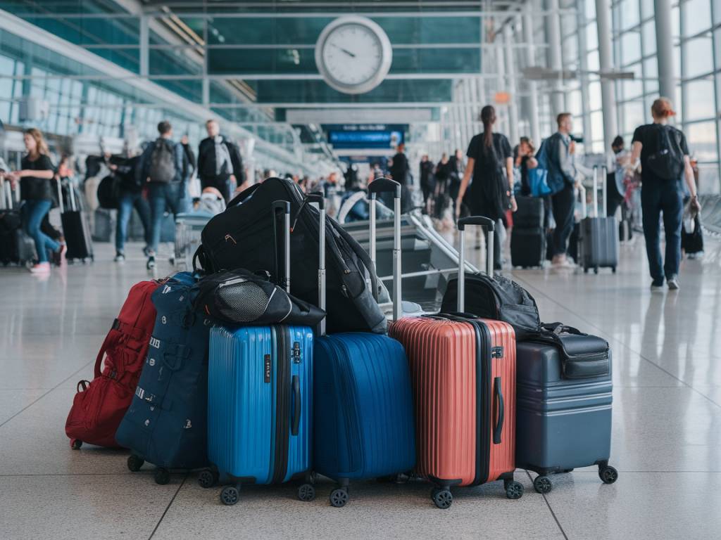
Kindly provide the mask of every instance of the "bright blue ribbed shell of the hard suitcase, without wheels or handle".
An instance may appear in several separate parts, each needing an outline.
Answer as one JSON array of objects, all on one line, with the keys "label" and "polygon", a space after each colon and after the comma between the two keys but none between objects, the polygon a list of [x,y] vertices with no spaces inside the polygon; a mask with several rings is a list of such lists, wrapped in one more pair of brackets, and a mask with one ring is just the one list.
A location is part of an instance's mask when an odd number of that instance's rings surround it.
[{"label": "bright blue ribbed shell of the hard suitcase, without wheels or handle", "polygon": [[[278,358],[278,332],[288,330],[298,343],[300,356],[289,352]],[[292,346],[291,346],[292,347]],[[290,350],[290,348],[289,348]],[[266,357],[270,355],[270,380]],[[296,361],[298,359],[298,361]],[[293,435],[293,395],[288,384],[288,410],[278,411],[279,363],[290,364],[301,392],[298,434]],[[208,459],[216,465],[221,481],[270,484],[275,468],[275,428],[282,415],[288,418],[288,467],[282,482],[309,471],[311,465],[311,395],[313,330],[305,326],[216,327],[211,330],[208,366]],[[267,382],[266,382],[267,381]]]}]

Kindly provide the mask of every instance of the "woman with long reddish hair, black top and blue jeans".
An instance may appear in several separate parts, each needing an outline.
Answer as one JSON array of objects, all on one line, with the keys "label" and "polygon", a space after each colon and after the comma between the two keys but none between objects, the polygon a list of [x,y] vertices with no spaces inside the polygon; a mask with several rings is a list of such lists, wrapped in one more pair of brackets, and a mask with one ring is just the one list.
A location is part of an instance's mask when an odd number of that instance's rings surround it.
[{"label": "woman with long reddish hair, black top and blue jeans", "polygon": [[40,230],[43,217],[53,204],[53,188],[50,180],[55,176],[55,168],[50,161],[50,151],[43,133],[32,127],[23,134],[27,154],[22,158],[22,169],[10,174],[13,182],[20,182],[22,206],[22,228],[35,241],[37,264],[30,268],[32,274],[50,274],[48,251],[54,253],[58,264],[63,261],[66,251],[64,243],[57,242]]}]

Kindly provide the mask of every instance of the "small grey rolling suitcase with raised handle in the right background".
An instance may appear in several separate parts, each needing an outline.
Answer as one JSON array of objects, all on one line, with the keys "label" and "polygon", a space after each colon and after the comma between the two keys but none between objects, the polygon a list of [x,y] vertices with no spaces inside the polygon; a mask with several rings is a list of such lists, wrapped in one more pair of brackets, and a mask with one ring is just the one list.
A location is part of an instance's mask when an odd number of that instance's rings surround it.
[{"label": "small grey rolling suitcase with raised handle in the right background", "polygon": [[[601,176],[603,178],[601,207],[605,209],[606,167],[603,167]],[[619,264],[619,225],[614,216],[598,216],[598,166],[593,167],[593,217],[585,217],[581,220],[578,242],[579,264],[583,267],[584,273],[593,269],[598,274],[600,268],[610,268],[614,274],[616,273],[616,266]]]}]

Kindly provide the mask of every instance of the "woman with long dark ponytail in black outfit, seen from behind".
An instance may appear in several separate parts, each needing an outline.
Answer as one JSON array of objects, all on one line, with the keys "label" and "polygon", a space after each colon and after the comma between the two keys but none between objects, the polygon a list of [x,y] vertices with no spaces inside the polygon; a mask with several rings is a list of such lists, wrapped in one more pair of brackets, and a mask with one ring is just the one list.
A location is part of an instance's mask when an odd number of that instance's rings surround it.
[{"label": "woman with long dark ponytail in black outfit, seen from behind", "polygon": [[[490,217],[494,221],[501,220],[504,226],[508,226],[505,212],[509,205],[513,212],[518,210],[516,198],[513,197],[513,151],[505,135],[493,132],[495,121],[495,108],[492,105],[483,107],[483,132],[474,135],[468,145],[468,165],[456,201],[456,216],[461,215],[461,204],[465,199],[472,215]],[[473,183],[469,189],[471,176]],[[467,198],[466,191],[469,193]],[[500,270],[501,246],[497,227],[494,236],[493,266]]]}]

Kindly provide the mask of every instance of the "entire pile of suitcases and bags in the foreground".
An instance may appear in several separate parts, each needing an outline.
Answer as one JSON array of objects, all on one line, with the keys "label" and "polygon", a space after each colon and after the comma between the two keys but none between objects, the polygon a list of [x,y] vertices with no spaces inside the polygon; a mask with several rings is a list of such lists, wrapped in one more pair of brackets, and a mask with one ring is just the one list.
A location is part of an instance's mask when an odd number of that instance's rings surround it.
[{"label": "entire pile of suitcases and bags in the foreground", "polygon": [[[392,180],[369,187],[370,255],[326,218],[322,195],[281,179],[247,192],[208,222],[192,272],[131,289],[95,378],[79,383],[74,449],[131,449],[128,468],[154,464],[160,484],[197,469],[201,486],[224,485],[226,505],[243,484],[291,481],[313,500],[316,474],[335,480],[336,507],[350,482],[373,478],[428,480],[438,508],[451,487],[496,480],[520,498],[517,467],[539,473],[539,492],[549,474],[594,464],[616,480],[606,341],[542,325],[531,295],[492,274],[459,271],[440,314],[403,317]],[[395,195],[389,328],[374,271],[379,192]],[[461,239],[467,225],[493,228],[464,218]]]}]

